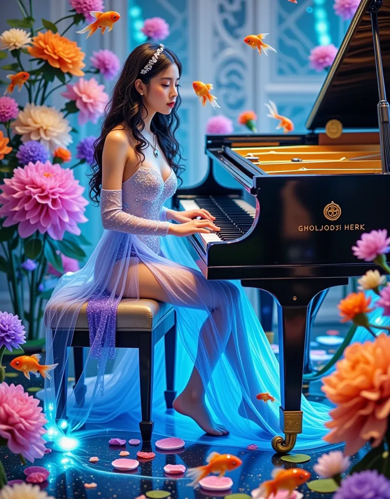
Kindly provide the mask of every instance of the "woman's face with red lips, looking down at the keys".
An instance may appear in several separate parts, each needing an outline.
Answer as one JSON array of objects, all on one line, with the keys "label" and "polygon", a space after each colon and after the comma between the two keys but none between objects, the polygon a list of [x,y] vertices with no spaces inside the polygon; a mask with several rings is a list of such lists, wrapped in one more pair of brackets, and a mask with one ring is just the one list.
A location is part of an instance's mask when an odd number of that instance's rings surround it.
[{"label": "woman's face with red lips, looking down at the keys", "polygon": [[179,68],[171,64],[165,71],[157,74],[144,86],[144,104],[148,111],[170,114],[178,96]]}]

